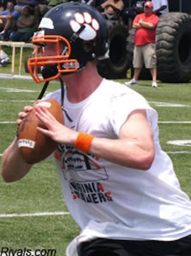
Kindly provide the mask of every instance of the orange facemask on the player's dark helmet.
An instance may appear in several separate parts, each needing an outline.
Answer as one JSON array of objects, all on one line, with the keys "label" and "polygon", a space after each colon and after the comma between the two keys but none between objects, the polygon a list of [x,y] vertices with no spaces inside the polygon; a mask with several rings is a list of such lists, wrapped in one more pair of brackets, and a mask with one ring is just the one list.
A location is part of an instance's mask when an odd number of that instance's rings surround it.
[{"label": "orange facemask on the player's dark helmet", "polygon": [[71,45],[66,38],[34,35],[32,43],[35,45],[34,57],[28,59],[27,66],[36,83],[55,80],[60,75],[78,71],[78,61],[69,59]]}]

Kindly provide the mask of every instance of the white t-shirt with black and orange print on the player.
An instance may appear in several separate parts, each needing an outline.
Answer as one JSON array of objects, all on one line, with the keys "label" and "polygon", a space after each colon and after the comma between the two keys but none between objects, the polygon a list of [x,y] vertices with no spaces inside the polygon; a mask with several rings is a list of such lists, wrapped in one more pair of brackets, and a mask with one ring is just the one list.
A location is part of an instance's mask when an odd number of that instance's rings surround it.
[{"label": "white t-shirt with black and orange print on the player", "polygon": [[[60,101],[60,90],[48,97]],[[190,199],[160,148],[157,112],[145,98],[103,79],[86,100],[70,103],[65,96],[64,105],[73,119],[69,122],[65,116],[66,126],[76,131],[117,139],[129,114],[145,109],[154,134],[155,159],[147,171],[122,167],[71,146],[57,148],[62,191],[81,235],[171,241],[191,234]]]}]

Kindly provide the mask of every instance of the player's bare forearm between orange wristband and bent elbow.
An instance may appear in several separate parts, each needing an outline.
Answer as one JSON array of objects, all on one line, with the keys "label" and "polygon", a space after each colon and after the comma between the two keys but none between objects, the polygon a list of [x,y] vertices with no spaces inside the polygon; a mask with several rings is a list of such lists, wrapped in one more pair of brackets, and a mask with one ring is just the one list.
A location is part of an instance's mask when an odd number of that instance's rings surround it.
[{"label": "player's bare forearm between orange wristband and bent elbow", "polygon": [[153,146],[141,147],[137,140],[95,138],[92,140],[90,153],[125,167],[148,170],[155,150]]}]

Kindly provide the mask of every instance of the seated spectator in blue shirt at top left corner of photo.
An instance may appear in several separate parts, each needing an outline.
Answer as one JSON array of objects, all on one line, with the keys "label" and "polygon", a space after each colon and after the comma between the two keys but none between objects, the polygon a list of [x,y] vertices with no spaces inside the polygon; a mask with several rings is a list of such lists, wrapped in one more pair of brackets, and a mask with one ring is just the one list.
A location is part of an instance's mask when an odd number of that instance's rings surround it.
[{"label": "seated spectator in blue shirt at top left corner of photo", "polygon": [[15,10],[14,3],[12,1],[8,1],[6,10],[1,11],[0,13],[1,39],[8,39],[11,31],[15,29],[15,25],[19,16],[20,12]]}]

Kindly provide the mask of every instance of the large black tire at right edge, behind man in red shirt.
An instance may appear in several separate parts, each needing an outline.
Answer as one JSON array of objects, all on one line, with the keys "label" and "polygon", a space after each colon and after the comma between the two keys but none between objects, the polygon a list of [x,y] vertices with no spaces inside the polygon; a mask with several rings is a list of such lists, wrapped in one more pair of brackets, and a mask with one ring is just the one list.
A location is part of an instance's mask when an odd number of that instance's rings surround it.
[{"label": "large black tire at right edge, behind man in red shirt", "polygon": [[162,82],[191,79],[191,15],[167,13],[157,26],[157,73]]}]

